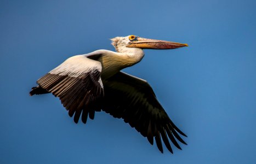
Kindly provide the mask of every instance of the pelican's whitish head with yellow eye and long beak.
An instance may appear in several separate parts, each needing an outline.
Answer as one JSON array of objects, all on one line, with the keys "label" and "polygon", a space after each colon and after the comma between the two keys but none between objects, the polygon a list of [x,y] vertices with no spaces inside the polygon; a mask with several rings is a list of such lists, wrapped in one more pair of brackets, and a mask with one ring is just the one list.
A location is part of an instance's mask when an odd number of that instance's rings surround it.
[{"label": "pelican's whitish head with yellow eye and long beak", "polygon": [[130,35],[127,37],[112,38],[112,45],[115,46],[117,52],[124,52],[127,48],[139,49],[177,49],[188,46],[183,43],[169,42],[164,40],[146,39],[138,36]]}]

